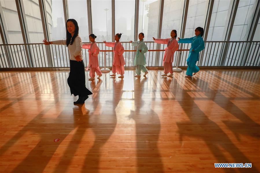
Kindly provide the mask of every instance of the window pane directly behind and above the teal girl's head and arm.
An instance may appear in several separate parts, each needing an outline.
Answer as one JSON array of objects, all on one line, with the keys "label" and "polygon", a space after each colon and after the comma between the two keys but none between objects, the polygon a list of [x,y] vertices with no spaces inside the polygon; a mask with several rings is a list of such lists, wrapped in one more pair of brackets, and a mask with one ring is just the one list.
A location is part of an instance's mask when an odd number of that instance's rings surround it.
[{"label": "window pane directly behind and above the teal girl's head and arm", "polygon": [[209,0],[189,1],[185,38],[194,36],[194,30],[197,27],[204,28],[208,6]]}]

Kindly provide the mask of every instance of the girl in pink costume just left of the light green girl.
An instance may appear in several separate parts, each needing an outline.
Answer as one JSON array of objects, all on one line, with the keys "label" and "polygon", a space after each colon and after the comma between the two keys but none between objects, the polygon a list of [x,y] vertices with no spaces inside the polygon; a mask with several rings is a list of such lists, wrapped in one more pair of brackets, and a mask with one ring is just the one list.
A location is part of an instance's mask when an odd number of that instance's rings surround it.
[{"label": "girl in pink costume just left of the light green girl", "polygon": [[123,53],[125,51],[123,45],[121,44],[121,42],[119,41],[121,38],[121,33],[117,33],[115,35],[115,40],[116,42],[106,42],[103,41],[105,43],[106,46],[108,47],[114,47],[114,60],[113,60],[113,65],[112,65],[112,72],[113,74],[110,75],[112,77],[116,77],[116,73],[120,74],[121,76],[119,77],[124,77],[124,73],[125,73],[125,68],[124,65],[126,64]]}]

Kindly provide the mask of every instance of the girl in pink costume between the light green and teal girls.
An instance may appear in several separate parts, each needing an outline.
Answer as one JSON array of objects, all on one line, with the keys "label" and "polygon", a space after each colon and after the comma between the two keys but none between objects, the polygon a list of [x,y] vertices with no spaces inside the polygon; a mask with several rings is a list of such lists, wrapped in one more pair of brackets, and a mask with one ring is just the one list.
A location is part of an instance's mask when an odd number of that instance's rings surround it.
[{"label": "girl in pink costume between the light green and teal girls", "polygon": [[176,37],[177,37],[176,30],[171,31],[171,38],[158,39],[153,37],[155,43],[167,44],[167,47],[165,48],[164,57],[163,57],[163,66],[164,66],[164,74],[162,75],[163,77],[167,76],[168,73],[170,73],[168,77],[173,76],[173,71],[172,71],[173,56],[175,51],[177,51],[179,48],[179,44],[176,40]]}]

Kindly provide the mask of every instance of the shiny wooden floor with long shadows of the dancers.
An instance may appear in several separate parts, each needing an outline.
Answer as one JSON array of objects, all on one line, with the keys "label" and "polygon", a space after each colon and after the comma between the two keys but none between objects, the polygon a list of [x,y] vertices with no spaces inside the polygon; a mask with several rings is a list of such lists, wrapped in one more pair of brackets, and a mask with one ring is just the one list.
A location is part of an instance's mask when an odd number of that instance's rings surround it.
[{"label": "shiny wooden floor with long shadows of the dancers", "polygon": [[260,70],[185,72],[106,73],[83,106],[68,71],[0,72],[0,172],[259,172]]}]

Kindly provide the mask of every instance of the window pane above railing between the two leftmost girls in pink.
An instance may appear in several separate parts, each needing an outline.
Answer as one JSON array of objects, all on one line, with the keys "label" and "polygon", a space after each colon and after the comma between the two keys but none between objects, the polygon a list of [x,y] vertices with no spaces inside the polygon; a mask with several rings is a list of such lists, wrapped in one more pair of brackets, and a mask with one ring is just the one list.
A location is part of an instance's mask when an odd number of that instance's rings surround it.
[{"label": "window pane above railing between the two leftmost girls in pink", "polygon": [[92,0],[92,25],[93,34],[97,36],[96,41],[112,41],[112,1]]}]

